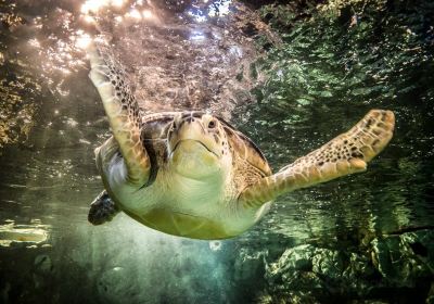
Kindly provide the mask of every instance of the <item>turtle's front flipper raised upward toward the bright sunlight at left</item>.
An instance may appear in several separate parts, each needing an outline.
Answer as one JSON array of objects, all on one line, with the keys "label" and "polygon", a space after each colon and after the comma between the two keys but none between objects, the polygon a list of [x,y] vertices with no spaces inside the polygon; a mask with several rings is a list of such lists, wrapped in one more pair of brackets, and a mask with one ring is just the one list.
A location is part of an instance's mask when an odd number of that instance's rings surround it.
[{"label": "turtle's front flipper raised upward toward the bright sunlight at left", "polygon": [[88,49],[91,71],[89,77],[97,87],[127,167],[127,181],[142,187],[151,172],[150,157],[140,138],[139,105],[131,93],[129,81],[120,63],[102,41]]}]

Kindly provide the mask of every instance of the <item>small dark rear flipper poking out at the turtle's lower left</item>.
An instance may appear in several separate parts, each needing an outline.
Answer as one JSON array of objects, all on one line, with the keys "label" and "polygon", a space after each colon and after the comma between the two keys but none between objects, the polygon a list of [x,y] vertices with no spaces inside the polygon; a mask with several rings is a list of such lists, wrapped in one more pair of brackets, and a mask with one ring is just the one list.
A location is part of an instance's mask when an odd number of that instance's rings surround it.
[{"label": "small dark rear flipper poking out at the turtle's lower left", "polygon": [[92,225],[101,225],[111,221],[118,212],[118,207],[104,190],[90,204],[88,220]]}]

